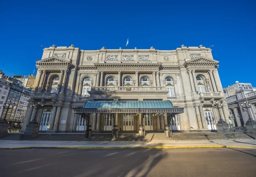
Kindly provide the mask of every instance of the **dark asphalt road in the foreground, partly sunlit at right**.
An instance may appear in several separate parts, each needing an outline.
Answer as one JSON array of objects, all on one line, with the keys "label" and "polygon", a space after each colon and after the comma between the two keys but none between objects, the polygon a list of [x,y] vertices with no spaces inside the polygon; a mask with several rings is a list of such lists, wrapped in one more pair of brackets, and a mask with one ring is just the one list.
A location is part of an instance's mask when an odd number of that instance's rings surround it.
[{"label": "dark asphalt road in the foreground, partly sunlit at right", "polygon": [[0,150],[0,177],[255,177],[256,149]]}]

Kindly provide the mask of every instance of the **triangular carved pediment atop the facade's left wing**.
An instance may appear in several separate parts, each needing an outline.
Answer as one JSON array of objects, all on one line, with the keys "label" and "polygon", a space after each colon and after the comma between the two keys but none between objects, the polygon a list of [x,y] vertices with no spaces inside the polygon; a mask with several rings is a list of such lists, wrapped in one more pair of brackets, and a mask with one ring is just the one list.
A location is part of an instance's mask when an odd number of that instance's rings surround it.
[{"label": "triangular carved pediment atop the facade's left wing", "polygon": [[71,66],[70,59],[61,59],[58,57],[49,57],[36,62],[38,65],[69,65]]}]

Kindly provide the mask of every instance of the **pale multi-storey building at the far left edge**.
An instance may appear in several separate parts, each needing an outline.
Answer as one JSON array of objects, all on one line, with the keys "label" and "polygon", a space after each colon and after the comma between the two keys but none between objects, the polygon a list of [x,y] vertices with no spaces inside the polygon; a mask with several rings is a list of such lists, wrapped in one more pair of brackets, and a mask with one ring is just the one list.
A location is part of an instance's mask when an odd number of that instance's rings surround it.
[{"label": "pale multi-storey building at the far left edge", "polygon": [[10,86],[11,83],[9,81],[4,80],[3,78],[0,78],[0,116],[3,113],[3,104],[6,103],[9,92],[10,92]]}]

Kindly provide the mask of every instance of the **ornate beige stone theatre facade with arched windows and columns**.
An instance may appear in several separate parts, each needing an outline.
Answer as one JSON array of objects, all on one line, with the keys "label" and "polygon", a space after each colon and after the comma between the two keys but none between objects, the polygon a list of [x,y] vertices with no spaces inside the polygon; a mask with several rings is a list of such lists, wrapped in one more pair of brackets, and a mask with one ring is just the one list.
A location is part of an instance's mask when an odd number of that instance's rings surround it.
[{"label": "ornate beige stone theatre facade with arched windows and columns", "polygon": [[[212,130],[219,119],[213,101],[224,104],[220,114],[229,123],[218,61],[204,46],[81,50],[74,45],[53,45],[44,49],[37,68],[22,132],[33,119],[41,132],[79,132],[87,126],[93,131],[111,131],[113,126],[119,131],[138,131],[140,125],[147,131],[162,131],[166,125],[173,130]],[[139,104],[155,108],[169,103],[184,108],[183,113],[170,120],[161,110],[128,111]],[[89,125],[74,111],[117,104],[121,110],[114,117],[108,111],[90,113]]]}]

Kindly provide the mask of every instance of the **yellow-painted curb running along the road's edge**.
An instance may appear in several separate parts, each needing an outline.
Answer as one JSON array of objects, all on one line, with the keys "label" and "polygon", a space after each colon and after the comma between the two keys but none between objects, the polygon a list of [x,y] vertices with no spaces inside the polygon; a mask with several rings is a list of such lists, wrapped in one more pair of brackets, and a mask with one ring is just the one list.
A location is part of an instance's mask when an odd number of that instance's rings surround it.
[{"label": "yellow-painted curb running along the road's edge", "polygon": [[256,149],[254,146],[229,146],[229,145],[205,145],[205,146],[153,146],[153,147],[17,147],[0,148],[0,150],[14,149],[188,149],[188,148],[248,148]]}]

